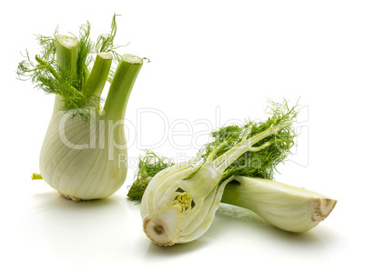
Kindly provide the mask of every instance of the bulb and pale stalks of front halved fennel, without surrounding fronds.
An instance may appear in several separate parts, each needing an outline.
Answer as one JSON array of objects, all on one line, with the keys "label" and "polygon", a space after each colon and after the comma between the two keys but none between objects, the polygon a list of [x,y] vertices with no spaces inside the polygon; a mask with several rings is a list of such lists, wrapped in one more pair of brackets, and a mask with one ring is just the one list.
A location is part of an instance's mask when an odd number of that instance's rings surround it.
[{"label": "bulb and pale stalks of front halved fennel, without surrounding fronds", "polygon": [[160,246],[171,246],[202,236],[215,217],[225,187],[233,179],[223,179],[231,173],[229,167],[246,153],[276,149],[276,137],[283,136],[283,143],[290,135],[292,118],[287,111],[276,112],[257,131],[254,125],[242,127],[239,134],[230,138],[235,137],[234,143],[219,144],[204,160],[198,155],[192,161],[158,172],[141,200],[140,213],[147,237]]}]

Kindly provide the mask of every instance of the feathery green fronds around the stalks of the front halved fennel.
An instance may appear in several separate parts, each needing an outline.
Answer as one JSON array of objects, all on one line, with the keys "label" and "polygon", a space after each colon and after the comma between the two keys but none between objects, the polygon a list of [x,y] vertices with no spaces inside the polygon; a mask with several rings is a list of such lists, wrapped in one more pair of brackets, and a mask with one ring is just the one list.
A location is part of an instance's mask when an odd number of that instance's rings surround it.
[{"label": "feathery green fronds around the stalks of the front halved fennel", "polygon": [[[206,146],[206,155],[223,141],[228,141],[229,145],[219,150],[215,157],[224,154],[242,140],[242,134],[246,130],[249,133],[248,138],[250,138],[271,127],[292,123],[298,114],[297,105],[290,107],[287,101],[284,101],[283,104],[269,101],[267,114],[269,117],[265,121],[249,121],[245,126],[229,126],[214,132],[212,134],[214,141]],[[222,180],[233,175],[273,179],[274,173],[277,171],[276,167],[290,155],[290,149],[295,145],[295,137],[293,126],[286,126],[278,133],[260,140],[250,151],[239,157],[225,170]]]}]

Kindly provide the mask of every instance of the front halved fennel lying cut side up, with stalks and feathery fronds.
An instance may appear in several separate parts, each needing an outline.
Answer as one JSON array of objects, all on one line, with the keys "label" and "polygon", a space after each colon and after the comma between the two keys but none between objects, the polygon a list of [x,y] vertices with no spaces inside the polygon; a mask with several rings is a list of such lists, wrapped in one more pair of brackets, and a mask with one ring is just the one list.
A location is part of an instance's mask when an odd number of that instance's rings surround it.
[{"label": "front halved fennel lying cut side up, with stalks and feathery fronds", "polygon": [[[141,200],[147,237],[158,245],[171,246],[203,235],[235,175],[249,171],[270,176],[289,154],[296,114],[294,107],[273,104],[268,120],[224,127],[203,155],[159,171]],[[259,165],[247,166],[254,159]]]}]

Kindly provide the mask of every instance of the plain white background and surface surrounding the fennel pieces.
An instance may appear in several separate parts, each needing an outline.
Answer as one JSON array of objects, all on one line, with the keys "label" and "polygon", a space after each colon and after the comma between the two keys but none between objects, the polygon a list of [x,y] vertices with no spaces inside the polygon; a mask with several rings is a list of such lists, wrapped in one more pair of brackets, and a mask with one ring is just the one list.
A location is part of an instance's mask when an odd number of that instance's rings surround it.
[{"label": "plain white background and surface surrounding the fennel pieces", "polygon": [[[2,272],[365,268],[364,1],[35,0],[8,2],[0,13]],[[96,37],[109,31],[114,13],[121,15],[117,43],[129,43],[120,52],[151,60],[127,106],[126,118],[136,126],[131,166],[112,197],[75,203],[30,179],[38,171],[54,97],[16,80],[15,69],[25,48],[37,54],[35,34],[53,35],[56,25],[61,33],[77,34],[88,20]],[[126,197],[143,147],[170,130],[155,150],[191,157],[198,150],[189,146],[192,135],[204,129],[198,120],[213,129],[232,119],[265,118],[268,98],[295,103],[299,97],[299,149],[276,180],[338,199],[330,217],[310,232],[290,234],[248,211],[236,210],[234,217],[232,207],[220,207],[197,241],[171,248],[150,243],[139,205]],[[168,124],[147,108],[164,113]],[[172,128],[183,119],[191,132],[172,137],[188,130]]]}]

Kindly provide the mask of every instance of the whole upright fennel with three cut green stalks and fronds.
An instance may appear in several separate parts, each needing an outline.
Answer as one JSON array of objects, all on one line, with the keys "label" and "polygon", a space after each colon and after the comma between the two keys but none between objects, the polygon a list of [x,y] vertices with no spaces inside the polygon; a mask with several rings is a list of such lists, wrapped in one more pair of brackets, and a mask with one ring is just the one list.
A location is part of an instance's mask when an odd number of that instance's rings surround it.
[{"label": "whole upright fennel with three cut green stalks and fronds", "polygon": [[[108,197],[127,176],[123,119],[143,61],[117,54],[116,30],[114,15],[110,34],[100,35],[96,43],[90,41],[89,24],[81,26],[79,39],[57,32],[54,37],[40,35],[42,52],[36,64],[27,54],[18,66],[21,79],[31,79],[46,93],[56,94],[40,153],[40,175],[73,200]],[[110,87],[102,108],[100,96],[107,80]]]}]

